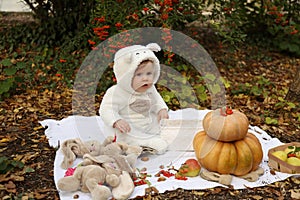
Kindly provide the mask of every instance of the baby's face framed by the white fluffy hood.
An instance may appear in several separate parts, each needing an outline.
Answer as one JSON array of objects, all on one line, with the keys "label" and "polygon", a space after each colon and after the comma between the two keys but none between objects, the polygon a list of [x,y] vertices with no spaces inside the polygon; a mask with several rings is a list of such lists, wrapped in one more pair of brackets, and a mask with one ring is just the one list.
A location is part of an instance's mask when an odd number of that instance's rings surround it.
[{"label": "baby's face framed by the white fluffy hood", "polygon": [[134,72],[131,87],[136,92],[146,92],[153,85],[153,77],[153,63],[148,62]]}]

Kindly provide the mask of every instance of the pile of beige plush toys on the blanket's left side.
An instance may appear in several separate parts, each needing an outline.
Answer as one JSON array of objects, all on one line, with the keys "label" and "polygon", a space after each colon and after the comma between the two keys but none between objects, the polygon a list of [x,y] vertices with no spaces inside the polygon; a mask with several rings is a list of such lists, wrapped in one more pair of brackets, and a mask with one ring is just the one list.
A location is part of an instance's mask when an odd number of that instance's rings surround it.
[{"label": "pile of beige plush toys on the blanket's left side", "polygon": [[62,191],[90,192],[92,199],[127,199],[134,190],[131,178],[135,172],[137,157],[142,153],[139,146],[116,142],[107,137],[98,141],[82,142],[80,139],[66,140],[61,146],[64,160],[62,168],[69,168],[77,157],[82,157],[81,166],[72,176],[58,180]]}]

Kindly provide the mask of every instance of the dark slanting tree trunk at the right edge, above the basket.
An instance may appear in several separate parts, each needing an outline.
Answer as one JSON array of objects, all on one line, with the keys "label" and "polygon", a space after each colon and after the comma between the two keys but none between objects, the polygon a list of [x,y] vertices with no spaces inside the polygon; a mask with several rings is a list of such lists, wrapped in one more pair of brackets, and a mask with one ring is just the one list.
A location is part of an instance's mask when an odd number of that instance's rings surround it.
[{"label": "dark slanting tree trunk at the right edge, above the basket", "polygon": [[297,67],[297,72],[286,95],[286,100],[291,102],[300,102],[300,66]]}]

